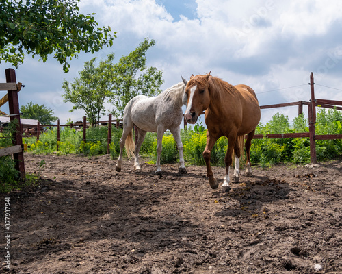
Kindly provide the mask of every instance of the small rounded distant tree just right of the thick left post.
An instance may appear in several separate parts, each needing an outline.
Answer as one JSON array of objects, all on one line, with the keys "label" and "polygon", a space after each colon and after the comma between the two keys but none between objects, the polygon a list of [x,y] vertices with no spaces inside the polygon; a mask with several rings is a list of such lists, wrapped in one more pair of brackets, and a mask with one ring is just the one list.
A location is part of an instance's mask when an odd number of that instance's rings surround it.
[{"label": "small rounded distant tree just right of the thick left post", "polygon": [[44,105],[38,103],[27,103],[27,106],[22,105],[20,108],[22,117],[26,119],[36,119],[42,125],[51,125],[58,117],[53,116],[53,110],[46,108]]}]

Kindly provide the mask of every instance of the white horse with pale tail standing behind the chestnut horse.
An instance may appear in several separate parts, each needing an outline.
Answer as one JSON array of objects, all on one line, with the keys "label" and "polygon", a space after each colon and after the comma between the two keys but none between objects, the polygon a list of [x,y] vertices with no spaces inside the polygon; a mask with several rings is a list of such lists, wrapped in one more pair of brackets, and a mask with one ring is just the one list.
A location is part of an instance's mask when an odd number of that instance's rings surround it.
[{"label": "white horse with pale tail standing behind the chestnut horse", "polygon": [[[124,108],[124,130],[120,139],[120,155],[118,164],[116,164],[116,171],[121,171],[122,152],[125,143],[127,154],[134,157],[134,169],[139,171],[139,151],[146,132],[157,132],[157,171],[155,172],[160,173],[161,141],[166,129],[170,129],[179,151],[179,173],[187,173],[184,166],[183,144],[179,128],[183,120],[182,105],[187,103],[187,97],[184,97],[186,85],[187,81],[183,79],[183,82],[164,90],[156,97],[138,95],[127,103]],[[139,136],[133,152],[132,128],[134,125],[137,127]]]}]

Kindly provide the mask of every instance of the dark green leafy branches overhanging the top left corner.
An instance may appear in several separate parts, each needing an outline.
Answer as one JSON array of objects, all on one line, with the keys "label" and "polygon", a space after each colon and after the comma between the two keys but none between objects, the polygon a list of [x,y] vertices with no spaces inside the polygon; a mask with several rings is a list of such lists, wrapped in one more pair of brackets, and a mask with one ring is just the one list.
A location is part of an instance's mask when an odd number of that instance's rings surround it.
[{"label": "dark green leafy branches overhanging the top left corner", "polygon": [[[81,0],[1,0],[0,64],[18,67],[24,52],[39,55],[43,62],[54,53],[68,72],[68,58],[81,51],[96,52],[111,47],[114,34],[110,27],[98,28],[91,15],[79,14]],[[24,2],[24,3],[23,3]]]}]

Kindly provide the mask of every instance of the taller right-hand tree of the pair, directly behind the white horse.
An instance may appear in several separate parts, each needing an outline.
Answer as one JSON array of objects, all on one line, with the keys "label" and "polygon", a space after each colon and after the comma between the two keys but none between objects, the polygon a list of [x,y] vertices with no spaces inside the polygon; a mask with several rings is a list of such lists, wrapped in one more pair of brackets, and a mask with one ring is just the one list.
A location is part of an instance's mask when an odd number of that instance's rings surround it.
[{"label": "taller right-hand tree of the pair, directly behind the white horse", "polygon": [[[114,54],[107,55],[104,77],[107,78],[109,99],[114,105],[111,112],[122,117],[124,107],[130,99],[137,95],[154,96],[161,92],[163,84],[162,72],[151,66],[146,68],[146,53],[155,45],[155,40],[145,39],[129,55],[120,58],[113,64]],[[137,73],[139,77],[136,78]]]}]

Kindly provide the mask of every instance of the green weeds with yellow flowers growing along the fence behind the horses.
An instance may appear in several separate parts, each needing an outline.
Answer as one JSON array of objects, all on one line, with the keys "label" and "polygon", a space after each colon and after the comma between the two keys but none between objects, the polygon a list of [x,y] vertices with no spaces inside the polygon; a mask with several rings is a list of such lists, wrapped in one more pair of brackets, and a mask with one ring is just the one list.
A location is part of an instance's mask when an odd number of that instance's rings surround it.
[{"label": "green weeds with yellow flowers growing along the fence behind the horses", "polygon": [[[12,130],[15,128],[11,126]],[[10,128],[10,127],[9,127]],[[206,145],[207,130],[202,125],[196,125],[193,130],[181,130],[181,139],[184,147],[184,158],[188,164],[205,164],[202,152]],[[272,120],[265,125],[259,124],[256,134],[274,134],[308,132],[308,121],[303,115],[289,123],[287,116],[283,114],[274,114]],[[5,135],[8,134],[8,135]],[[342,113],[333,109],[318,109],[316,134],[342,134]],[[122,129],[112,128],[111,145],[109,151],[111,158],[118,156],[120,147],[119,141],[122,135]],[[7,147],[12,144],[10,130],[3,132],[1,136],[9,138],[0,138],[0,147]],[[83,153],[88,157],[102,155],[107,153],[107,127],[93,127],[87,129],[87,142],[83,142],[83,132],[73,128],[65,127],[60,132],[60,142],[57,155],[68,153]],[[57,129],[51,129],[40,135],[40,140],[36,138],[23,138],[23,142],[29,145],[28,153],[53,153],[57,149]],[[224,155],[227,149],[227,139],[222,137],[216,142],[213,151],[211,151],[211,164],[224,166]],[[317,160],[323,161],[336,158],[342,155],[342,140],[316,140]],[[157,134],[148,132],[140,155],[150,158],[151,163],[157,159]],[[163,136],[163,150],[161,153],[161,163],[172,163],[179,160],[179,153],[176,148],[176,142],[170,132]],[[252,164],[269,166],[279,162],[308,163],[310,162],[310,143],[308,138],[281,138],[281,139],[254,139],[251,148]],[[44,163],[38,166],[40,171]],[[39,173],[39,172],[38,172]],[[36,175],[37,176],[37,175]],[[33,175],[27,175],[27,181],[34,181]],[[18,174],[14,169],[14,162],[11,156],[0,158],[0,182],[1,190],[9,188],[6,182],[14,182],[12,186],[18,184],[16,181]]]}]

